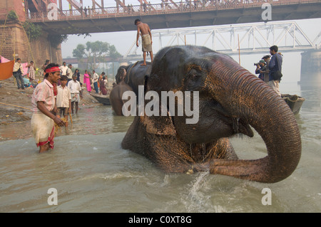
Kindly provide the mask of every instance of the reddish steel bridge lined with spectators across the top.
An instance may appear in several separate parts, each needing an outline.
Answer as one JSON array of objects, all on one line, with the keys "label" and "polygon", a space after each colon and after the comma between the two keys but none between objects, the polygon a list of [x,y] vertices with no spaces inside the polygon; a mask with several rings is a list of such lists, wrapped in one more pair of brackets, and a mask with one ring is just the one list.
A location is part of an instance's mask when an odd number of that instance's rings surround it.
[{"label": "reddish steel bridge lined with spectators across the top", "polygon": [[[57,3],[56,17],[49,16],[51,2]],[[265,3],[272,6],[270,21],[321,17],[321,0],[158,0],[157,4],[138,0],[134,6],[125,0],[114,2],[116,6],[105,7],[103,0],[92,0],[92,7],[85,10],[82,0],[26,0],[26,20],[58,34],[133,31],[137,18],[152,29],[185,28],[260,22]]]}]

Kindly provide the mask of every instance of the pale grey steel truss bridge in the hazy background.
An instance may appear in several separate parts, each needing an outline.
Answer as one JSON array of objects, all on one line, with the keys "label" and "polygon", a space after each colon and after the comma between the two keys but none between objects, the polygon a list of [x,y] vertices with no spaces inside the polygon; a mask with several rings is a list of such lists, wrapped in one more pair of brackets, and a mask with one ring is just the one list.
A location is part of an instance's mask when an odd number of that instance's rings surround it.
[{"label": "pale grey steel truss bridge in the hazy background", "polygon": [[[197,45],[230,55],[238,54],[239,50],[243,54],[268,53],[273,45],[282,52],[307,51],[321,46],[321,31],[312,41],[296,22],[161,29],[153,30],[152,36],[154,50],[165,46]],[[134,41],[124,58],[136,57],[141,58],[141,48]]]}]

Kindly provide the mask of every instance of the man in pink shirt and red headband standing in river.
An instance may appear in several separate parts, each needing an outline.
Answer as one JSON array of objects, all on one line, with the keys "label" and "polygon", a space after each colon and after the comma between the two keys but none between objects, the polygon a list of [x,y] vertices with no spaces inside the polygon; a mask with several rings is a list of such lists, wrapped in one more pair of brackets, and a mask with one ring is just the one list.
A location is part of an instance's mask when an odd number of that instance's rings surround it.
[{"label": "man in pink shirt and red headband standing in river", "polygon": [[45,78],[36,86],[31,98],[34,114],[31,118],[31,129],[34,134],[39,153],[54,148],[54,123],[64,126],[65,123],[56,117],[54,85],[60,79],[58,64],[50,63],[45,69]]}]

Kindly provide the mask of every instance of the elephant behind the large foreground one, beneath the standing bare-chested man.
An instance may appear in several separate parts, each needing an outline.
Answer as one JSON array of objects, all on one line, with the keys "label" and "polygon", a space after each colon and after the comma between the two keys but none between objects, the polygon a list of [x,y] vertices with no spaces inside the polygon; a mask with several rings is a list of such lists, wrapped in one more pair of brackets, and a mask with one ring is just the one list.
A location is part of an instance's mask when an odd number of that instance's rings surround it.
[{"label": "elephant behind the large foreground one, beneath the standing bare-chested man", "polygon": [[138,86],[143,85],[144,77],[151,70],[151,63],[141,65],[143,61],[138,61],[131,65],[122,65],[116,74],[116,86],[111,90],[109,100],[116,115],[123,116],[122,107],[126,100],[122,100],[123,93],[133,91],[138,97]]}]

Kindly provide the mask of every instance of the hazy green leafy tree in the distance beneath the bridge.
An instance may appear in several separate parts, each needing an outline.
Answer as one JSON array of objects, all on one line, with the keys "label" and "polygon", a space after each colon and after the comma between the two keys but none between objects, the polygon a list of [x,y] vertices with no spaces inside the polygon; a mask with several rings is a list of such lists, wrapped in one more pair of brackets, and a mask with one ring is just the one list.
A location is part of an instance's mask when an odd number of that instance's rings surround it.
[{"label": "hazy green leafy tree in the distance beneath the bridge", "polygon": [[116,60],[121,57],[121,54],[118,53],[115,46],[107,42],[88,41],[85,45],[78,44],[76,49],[73,49],[73,57],[77,58],[79,62],[83,62],[83,58],[87,58],[87,68],[89,63],[91,70],[96,70],[106,57]]}]

